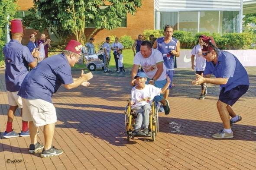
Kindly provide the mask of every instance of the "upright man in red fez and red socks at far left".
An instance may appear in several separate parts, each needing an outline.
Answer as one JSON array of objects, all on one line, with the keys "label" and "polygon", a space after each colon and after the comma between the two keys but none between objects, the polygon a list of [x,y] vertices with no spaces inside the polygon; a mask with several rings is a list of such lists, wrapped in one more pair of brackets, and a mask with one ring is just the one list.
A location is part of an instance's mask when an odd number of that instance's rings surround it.
[{"label": "upright man in red fez and red socks at far left", "polygon": [[[7,112],[8,120],[6,131],[3,133],[3,137],[5,138],[19,136],[19,134],[14,132],[12,128],[14,113],[18,107],[21,108],[21,115],[23,114],[22,101],[17,93],[23,79],[29,72],[28,67],[34,68],[37,65],[38,58],[34,57],[39,57],[38,51],[32,51],[31,54],[28,47],[21,44],[23,28],[20,20],[11,21],[11,34],[12,40],[3,47],[6,65],[5,83],[10,105]],[[22,122],[20,136],[29,136],[28,122],[26,121]]]}]

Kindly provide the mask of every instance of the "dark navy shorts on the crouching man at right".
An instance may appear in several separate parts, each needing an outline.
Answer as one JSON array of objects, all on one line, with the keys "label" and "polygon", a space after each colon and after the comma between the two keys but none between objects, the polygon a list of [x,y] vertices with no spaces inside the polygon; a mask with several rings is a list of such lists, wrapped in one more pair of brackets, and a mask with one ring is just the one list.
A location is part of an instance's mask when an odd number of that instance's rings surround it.
[{"label": "dark navy shorts on the crouching man at right", "polygon": [[249,85],[238,85],[237,87],[232,88],[231,90],[226,91],[225,93],[225,88],[222,88],[220,91],[219,100],[225,104],[233,106],[233,104],[235,104],[238,101],[238,99],[246,93],[248,88]]}]

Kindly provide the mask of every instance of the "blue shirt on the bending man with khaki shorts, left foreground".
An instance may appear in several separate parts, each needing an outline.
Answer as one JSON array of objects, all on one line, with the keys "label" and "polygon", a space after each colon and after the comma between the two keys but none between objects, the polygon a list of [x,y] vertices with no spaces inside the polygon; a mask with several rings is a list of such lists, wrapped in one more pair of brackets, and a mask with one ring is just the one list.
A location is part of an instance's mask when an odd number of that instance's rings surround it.
[{"label": "blue shirt on the bending man with khaki shorts, left foreground", "polygon": [[52,94],[64,84],[73,83],[71,66],[64,54],[42,60],[24,79],[18,95],[29,100],[42,99],[52,103]]}]

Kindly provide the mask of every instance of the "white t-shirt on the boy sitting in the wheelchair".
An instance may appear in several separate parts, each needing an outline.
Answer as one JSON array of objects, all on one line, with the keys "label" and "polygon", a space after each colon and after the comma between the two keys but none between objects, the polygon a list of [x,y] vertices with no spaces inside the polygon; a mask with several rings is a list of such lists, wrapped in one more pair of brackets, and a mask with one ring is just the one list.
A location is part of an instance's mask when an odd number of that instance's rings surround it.
[{"label": "white t-shirt on the boy sitting in the wheelchair", "polygon": [[131,91],[131,100],[135,103],[132,105],[134,107],[141,107],[145,104],[152,104],[152,101],[155,96],[160,95],[161,88],[157,88],[153,85],[146,85],[143,89],[136,89],[136,86],[133,87]]}]

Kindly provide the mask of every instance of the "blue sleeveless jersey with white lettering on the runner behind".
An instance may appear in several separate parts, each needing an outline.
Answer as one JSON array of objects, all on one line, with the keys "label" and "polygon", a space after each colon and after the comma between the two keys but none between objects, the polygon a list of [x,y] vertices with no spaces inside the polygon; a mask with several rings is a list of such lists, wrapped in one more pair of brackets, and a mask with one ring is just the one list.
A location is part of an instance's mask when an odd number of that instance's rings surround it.
[{"label": "blue sleeveless jersey with white lettering on the runner behind", "polygon": [[174,55],[169,54],[171,50],[175,50],[178,40],[172,37],[172,40],[166,44],[164,37],[157,38],[157,50],[163,54],[164,64],[167,70],[174,69]]}]

